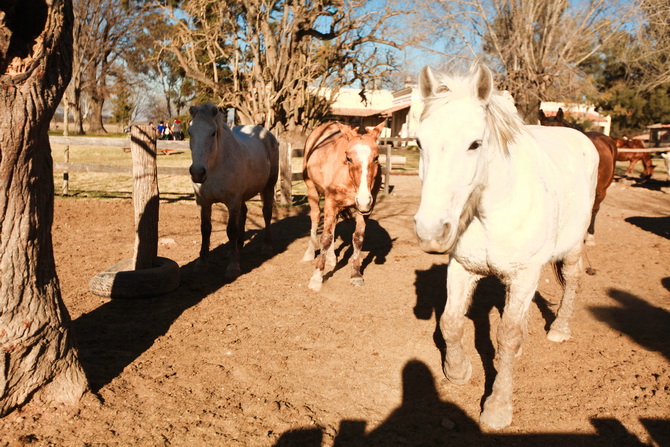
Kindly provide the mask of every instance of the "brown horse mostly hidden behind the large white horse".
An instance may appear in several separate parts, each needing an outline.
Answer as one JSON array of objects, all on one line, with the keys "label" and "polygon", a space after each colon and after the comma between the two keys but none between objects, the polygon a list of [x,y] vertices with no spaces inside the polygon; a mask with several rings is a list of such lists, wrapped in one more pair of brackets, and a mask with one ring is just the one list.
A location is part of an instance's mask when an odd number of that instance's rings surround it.
[{"label": "brown horse mostly hidden behind the large white horse", "polygon": [[[572,127],[573,129],[584,132],[579,126],[569,123],[563,118],[563,109],[558,109],[556,116],[546,116],[542,109],[539,115],[540,124],[543,126],[563,126]],[[600,210],[600,204],[605,200],[607,195],[607,188],[614,180],[614,168],[617,160],[617,145],[613,138],[600,132],[584,132],[589,137],[596,150],[598,151],[598,183],[596,184],[596,198],[593,202],[593,209],[591,210],[591,224],[586,234],[586,245],[595,245],[595,224],[596,215]]]}]

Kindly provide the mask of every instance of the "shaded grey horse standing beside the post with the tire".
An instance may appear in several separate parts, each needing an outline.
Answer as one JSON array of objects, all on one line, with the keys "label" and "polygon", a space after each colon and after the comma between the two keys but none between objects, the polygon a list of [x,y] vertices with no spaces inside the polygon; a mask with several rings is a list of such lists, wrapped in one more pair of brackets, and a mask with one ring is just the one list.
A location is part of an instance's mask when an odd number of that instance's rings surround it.
[{"label": "shaded grey horse standing beside the post with the tire", "polygon": [[237,126],[232,130],[214,104],[189,109],[188,132],[193,163],[189,168],[195,200],[200,206],[202,245],[196,270],[209,255],[212,204],[228,208],[227,234],[230,256],[226,276],[240,274],[240,249],[244,244],[247,206],[244,202],[260,193],[265,220],[265,250],[272,251],[272,206],[279,173],[277,139],[260,126]]}]

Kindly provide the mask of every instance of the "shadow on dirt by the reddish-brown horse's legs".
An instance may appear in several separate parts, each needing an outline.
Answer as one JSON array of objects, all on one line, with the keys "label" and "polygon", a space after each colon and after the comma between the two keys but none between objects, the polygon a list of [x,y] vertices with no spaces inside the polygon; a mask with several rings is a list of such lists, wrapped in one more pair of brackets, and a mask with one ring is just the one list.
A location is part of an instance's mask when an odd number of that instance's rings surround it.
[{"label": "shadow on dirt by the reddish-brown horse's legs", "polygon": [[[334,240],[340,238],[342,243],[335,248],[337,264],[331,271],[323,276],[324,281],[331,278],[335,272],[349,264],[351,256],[354,253],[352,237],[355,228],[356,222],[353,219],[344,219],[338,222],[335,226]],[[373,262],[376,265],[386,263],[386,256],[390,253],[394,240],[395,239],[391,239],[388,231],[386,231],[377,220],[368,219],[365,226],[363,248],[361,249],[361,254],[363,255],[367,252],[367,255],[365,255],[365,258],[361,261],[361,274],[363,274],[365,268]]]}]

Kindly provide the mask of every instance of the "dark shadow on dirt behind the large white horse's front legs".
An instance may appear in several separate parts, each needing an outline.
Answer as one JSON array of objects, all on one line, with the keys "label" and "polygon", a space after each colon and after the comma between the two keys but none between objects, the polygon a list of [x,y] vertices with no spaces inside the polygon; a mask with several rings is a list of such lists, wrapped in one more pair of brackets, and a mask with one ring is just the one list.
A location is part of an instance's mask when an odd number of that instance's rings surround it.
[{"label": "dark shadow on dirt behind the large white horse's front legs", "polygon": [[[440,331],[440,317],[447,303],[446,275],[448,266],[446,264],[433,265],[428,270],[417,270],[416,289],[417,303],[414,307],[414,315],[421,320],[428,320],[432,315],[435,317],[435,332],[433,341],[440,350],[442,363],[444,363],[447,347],[444,337]],[[494,366],[495,346],[491,340],[491,323],[489,314],[492,310],[502,315],[505,306],[505,286],[495,276],[482,278],[472,296],[472,303],[466,317],[472,320],[475,330],[475,349],[477,350],[484,368],[484,400],[493,391],[493,381],[497,371]]]}]

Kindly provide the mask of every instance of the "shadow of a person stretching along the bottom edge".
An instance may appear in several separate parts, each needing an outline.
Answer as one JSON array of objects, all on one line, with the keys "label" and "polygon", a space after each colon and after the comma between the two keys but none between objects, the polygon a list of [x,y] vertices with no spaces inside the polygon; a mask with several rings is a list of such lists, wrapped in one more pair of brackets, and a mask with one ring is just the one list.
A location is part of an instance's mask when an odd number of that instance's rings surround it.
[{"label": "shadow of a person stretching along the bottom edge", "polygon": [[[440,398],[432,373],[419,360],[410,360],[403,368],[402,389],[402,403],[378,427],[367,431],[363,419],[340,421],[333,447],[644,445],[616,419],[591,419],[593,434],[485,433],[458,405]],[[670,420],[640,421],[658,445],[668,439]],[[283,433],[274,447],[321,447],[324,438],[322,427],[293,429]]]}]

